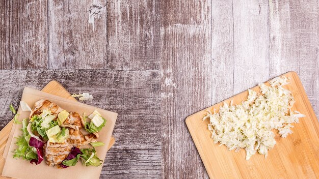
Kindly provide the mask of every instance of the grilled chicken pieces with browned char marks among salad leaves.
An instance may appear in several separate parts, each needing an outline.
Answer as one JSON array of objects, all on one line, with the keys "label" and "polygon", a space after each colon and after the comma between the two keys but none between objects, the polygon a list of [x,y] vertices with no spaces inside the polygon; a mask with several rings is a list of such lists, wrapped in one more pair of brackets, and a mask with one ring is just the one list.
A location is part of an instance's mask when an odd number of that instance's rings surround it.
[{"label": "grilled chicken pieces with browned char marks among salad leaves", "polygon": [[[30,118],[33,115],[40,115],[44,109],[50,110],[52,115],[57,116],[59,112],[63,109],[60,108],[55,103],[48,100],[37,101],[32,109]],[[54,166],[56,168],[62,168],[61,162],[69,155],[73,146],[80,148],[82,145],[89,144],[91,142],[96,142],[98,138],[97,133],[83,135],[80,129],[84,128],[85,121],[83,117],[77,112],[70,112],[67,119],[63,122],[61,127],[66,127],[69,129],[69,138],[63,143],[49,142],[44,145],[44,155],[45,162],[49,166]]]}]

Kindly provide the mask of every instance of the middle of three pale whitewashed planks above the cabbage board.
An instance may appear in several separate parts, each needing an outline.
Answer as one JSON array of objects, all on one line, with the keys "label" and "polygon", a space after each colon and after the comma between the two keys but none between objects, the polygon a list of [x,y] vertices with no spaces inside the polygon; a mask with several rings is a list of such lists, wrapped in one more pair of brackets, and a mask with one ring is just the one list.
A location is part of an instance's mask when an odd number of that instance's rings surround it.
[{"label": "middle of three pale whitewashed planks above the cabbage board", "polygon": [[233,95],[269,79],[268,2],[233,1]]}]

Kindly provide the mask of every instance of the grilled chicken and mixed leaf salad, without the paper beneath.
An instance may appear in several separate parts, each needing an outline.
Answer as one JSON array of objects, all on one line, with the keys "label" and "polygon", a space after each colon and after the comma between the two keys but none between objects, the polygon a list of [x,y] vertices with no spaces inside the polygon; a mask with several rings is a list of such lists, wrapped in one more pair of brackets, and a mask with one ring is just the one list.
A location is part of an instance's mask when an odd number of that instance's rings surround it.
[{"label": "grilled chicken and mixed leaf salad, without the paper beneath", "polygon": [[[29,118],[21,123],[22,135],[16,138],[17,148],[13,158],[29,160],[38,165],[44,158],[48,166],[67,168],[74,166],[79,158],[85,166],[99,166],[101,160],[96,156],[94,146],[104,145],[98,142],[98,132],[105,126],[101,114],[94,110],[89,116],[77,112],[67,112],[48,100],[39,100],[31,109],[20,102],[22,111],[30,111]],[[91,121],[87,122],[87,118]],[[81,129],[89,134],[84,135]],[[82,148],[91,144],[93,148]]]}]

